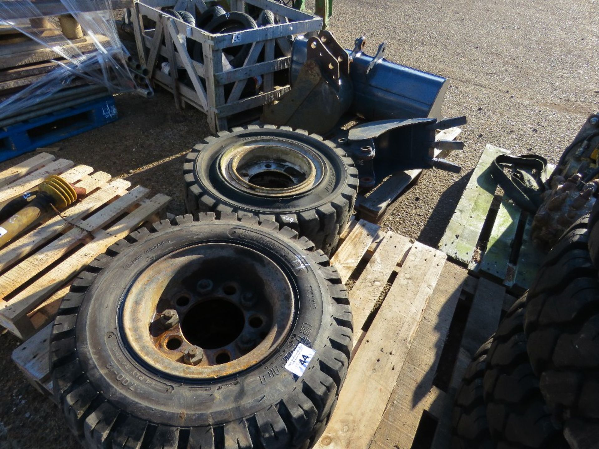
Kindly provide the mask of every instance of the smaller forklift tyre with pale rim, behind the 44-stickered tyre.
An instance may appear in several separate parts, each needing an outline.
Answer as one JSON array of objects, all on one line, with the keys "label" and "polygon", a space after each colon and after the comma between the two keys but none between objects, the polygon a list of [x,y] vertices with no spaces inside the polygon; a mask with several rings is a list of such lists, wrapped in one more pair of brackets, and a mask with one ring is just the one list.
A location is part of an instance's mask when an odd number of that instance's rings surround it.
[{"label": "smaller forklift tyre with pale rim, behind the 44-stickered tyre", "polygon": [[252,214],[294,229],[329,255],[352,214],[358,171],[316,134],[250,125],[195,145],[183,165],[187,212]]}]

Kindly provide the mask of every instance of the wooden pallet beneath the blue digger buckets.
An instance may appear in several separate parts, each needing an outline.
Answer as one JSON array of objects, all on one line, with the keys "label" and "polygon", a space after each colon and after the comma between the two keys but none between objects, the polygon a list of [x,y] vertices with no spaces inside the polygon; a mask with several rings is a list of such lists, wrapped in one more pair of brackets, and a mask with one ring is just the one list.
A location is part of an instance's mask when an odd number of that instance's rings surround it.
[{"label": "wooden pallet beneath the blue digger buckets", "polygon": [[[437,134],[437,140],[455,140],[461,128],[450,128]],[[447,157],[451,150],[435,150],[435,157]],[[401,171],[383,180],[372,192],[364,192],[356,199],[356,211],[362,219],[380,223],[399,205],[398,198],[410,184],[416,182],[422,170]]]}]

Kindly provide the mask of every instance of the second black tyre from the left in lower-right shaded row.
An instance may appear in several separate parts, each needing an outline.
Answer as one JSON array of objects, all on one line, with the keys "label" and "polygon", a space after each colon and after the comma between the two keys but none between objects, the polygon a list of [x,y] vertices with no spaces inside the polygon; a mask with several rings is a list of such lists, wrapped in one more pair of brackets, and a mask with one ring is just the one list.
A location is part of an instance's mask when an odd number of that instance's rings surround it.
[{"label": "second black tyre from the left in lower-right shaded row", "polygon": [[486,358],[483,391],[489,431],[497,447],[567,449],[528,360],[525,302],[526,295],[510,308]]}]

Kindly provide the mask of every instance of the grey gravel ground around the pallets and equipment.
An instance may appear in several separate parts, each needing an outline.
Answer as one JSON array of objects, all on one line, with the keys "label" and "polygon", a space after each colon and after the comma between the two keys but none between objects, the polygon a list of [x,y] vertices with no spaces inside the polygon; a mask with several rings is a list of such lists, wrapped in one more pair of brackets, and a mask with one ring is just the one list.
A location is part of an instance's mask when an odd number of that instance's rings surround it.
[{"label": "grey gravel ground around the pallets and equipment", "polygon": [[[465,150],[455,175],[426,171],[383,226],[435,246],[486,143],[556,162],[589,113],[599,110],[597,2],[575,0],[337,0],[330,29],[345,47],[368,37],[386,57],[452,79],[443,113],[465,115]],[[170,95],[116,98],[120,120],[59,142],[57,157],[125,177],[173,197],[183,213],[181,162],[208,135],[204,117],[177,111]],[[0,164],[12,166],[31,155]],[[0,335],[0,449],[74,449],[58,409],[26,383],[10,360],[19,344]]]}]

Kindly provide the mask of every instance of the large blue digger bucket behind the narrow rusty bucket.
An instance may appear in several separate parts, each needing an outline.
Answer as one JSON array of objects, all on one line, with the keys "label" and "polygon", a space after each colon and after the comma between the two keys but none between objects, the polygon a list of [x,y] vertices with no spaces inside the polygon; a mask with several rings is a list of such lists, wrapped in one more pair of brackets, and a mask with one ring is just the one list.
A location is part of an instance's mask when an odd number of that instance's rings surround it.
[{"label": "large blue digger bucket behind the narrow rusty bucket", "polygon": [[[294,40],[290,68],[292,86],[306,60],[307,42],[301,36]],[[353,113],[368,120],[441,116],[449,80],[384,59],[367,73],[373,60],[373,56],[358,53],[350,64],[354,90],[350,110]]]}]

